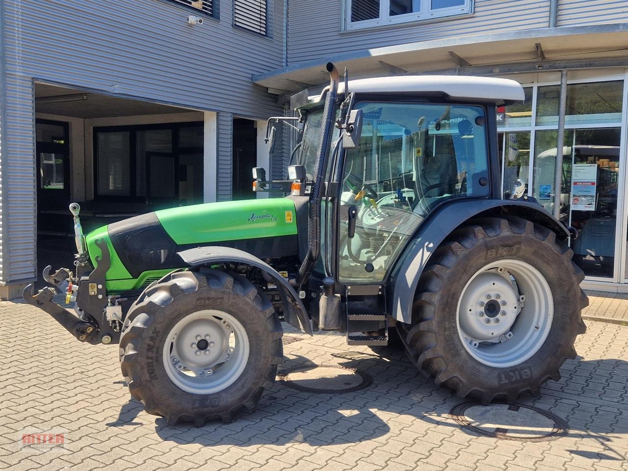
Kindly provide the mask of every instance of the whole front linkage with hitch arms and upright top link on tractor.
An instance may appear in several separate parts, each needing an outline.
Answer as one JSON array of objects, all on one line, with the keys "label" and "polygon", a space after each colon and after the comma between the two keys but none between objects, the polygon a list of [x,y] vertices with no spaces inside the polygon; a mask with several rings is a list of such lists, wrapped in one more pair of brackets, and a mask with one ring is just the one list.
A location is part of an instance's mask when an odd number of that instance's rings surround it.
[{"label": "whole front linkage with hitch arms and upright top link on tractor", "polygon": [[[70,210],[77,220],[78,205],[76,203],[73,205],[76,208],[70,205]],[[24,288],[24,301],[46,311],[80,342],[87,342],[92,345],[101,342],[103,344],[117,343],[120,337],[121,315],[120,318],[112,318],[111,320],[108,318],[111,317],[112,313],[116,313],[115,308],[119,306],[108,306],[109,300],[105,286],[105,276],[111,266],[109,247],[102,239],[95,242],[102,255],[96,257],[96,268],[88,276],[84,276],[83,273],[85,268],[89,267],[89,262],[82,242],[80,223],[75,224],[75,231],[80,233],[80,239],[77,237],[79,253],[77,254],[77,261],[75,261],[76,277],[73,278],[72,272],[67,268],[58,269],[55,274],[50,275],[50,266],[47,266],[43,271],[43,278],[53,287],[47,286],[35,294],[34,286],[29,284]],[[53,301],[53,296],[64,291],[67,295],[66,304],[72,303],[78,316]],[[114,309],[108,310],[108,307]],[[114,317],[116,316],[114,315]]]}]

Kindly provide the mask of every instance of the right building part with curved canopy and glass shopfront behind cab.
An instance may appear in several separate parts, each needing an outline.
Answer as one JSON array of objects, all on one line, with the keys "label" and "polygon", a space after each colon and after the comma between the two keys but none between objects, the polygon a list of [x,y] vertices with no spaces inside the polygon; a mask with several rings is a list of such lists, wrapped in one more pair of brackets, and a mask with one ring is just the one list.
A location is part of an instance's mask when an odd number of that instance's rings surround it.
[{"label": "right building part with curved canopy and glass shopfront behind cab", "polygon": [[328,60],[352,78],[517,80],[526,101],[497,115],[505,197],[523,184],[555,212],[558,191],[556,213],[580,236],[573,250],[585,287],[628,291],[627,20],[624,1],[291,0],[287,64],[254,82],[284,90],[279,100],[296,92],[295,84],[315,94]]}]

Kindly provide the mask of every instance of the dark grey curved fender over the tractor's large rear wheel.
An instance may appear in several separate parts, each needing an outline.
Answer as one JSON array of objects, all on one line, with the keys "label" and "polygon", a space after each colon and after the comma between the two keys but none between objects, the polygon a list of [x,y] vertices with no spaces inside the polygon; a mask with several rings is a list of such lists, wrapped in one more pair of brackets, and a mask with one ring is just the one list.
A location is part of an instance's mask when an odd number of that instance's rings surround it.
[{"label": "dark grey curved fender over the tractor's large rear wheel", "polygon": [[413,240],[399,257],[392,273],[389,312],[399,322],[411,323],[414,293],[431,255],[451,232],[475,216],[521,216],[556,232],[556,239],[568,240],[569,231],[538,203],[519,200],[471,200],[441,207],[421,224]]}]

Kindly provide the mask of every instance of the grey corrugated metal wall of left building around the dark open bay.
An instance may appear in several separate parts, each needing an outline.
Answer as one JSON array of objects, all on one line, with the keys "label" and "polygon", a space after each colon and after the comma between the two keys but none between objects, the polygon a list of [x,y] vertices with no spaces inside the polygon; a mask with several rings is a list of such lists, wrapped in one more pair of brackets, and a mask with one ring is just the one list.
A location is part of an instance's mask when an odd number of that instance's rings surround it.
[{"label": "grey corrugated metal wall of left building around the dark open bay", "polygon": [[0,0],[10,97],[0,161],[7,185],[1,281],[35,276],[32,79],[219,111],[217,178],[225,199],[231,114],[281,112],[273,95],[251,82],[252,74],[283,65],[283,0],[270,4],[273,38],[233,28],[230,1],[220,2],[220,21],[192,26],[193,11],[161,0]]}]

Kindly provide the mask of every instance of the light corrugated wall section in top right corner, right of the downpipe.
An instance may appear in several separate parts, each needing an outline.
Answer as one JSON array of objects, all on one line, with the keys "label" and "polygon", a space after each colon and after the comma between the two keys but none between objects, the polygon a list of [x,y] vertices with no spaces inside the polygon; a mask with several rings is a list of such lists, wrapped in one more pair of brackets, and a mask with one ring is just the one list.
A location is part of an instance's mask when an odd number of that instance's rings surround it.
[{"label": "light corrugated wall section in top right corner, right of the downpipe", "polygon": [[573,24],[625,23],[626,0],[559,0],[558,26]]}]

